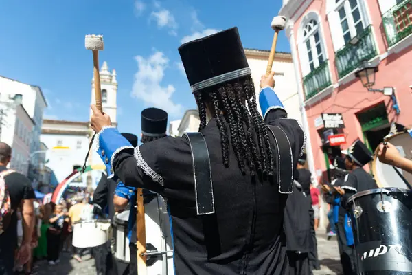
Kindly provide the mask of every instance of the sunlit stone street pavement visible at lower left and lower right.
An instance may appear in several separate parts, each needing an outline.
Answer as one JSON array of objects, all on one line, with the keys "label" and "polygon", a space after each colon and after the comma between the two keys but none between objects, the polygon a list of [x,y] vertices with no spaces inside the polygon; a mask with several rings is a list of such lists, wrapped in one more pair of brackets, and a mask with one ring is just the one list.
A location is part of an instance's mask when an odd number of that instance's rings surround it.
[{"label": "sunlit stone street pavement visible at lower left and lower right", "polygon": [[[342,268],[336,237],[328,240],[326,234],[317,234],[317,241],[321,270],[314,270],[313,274],[340,275]],[[71,254],[62,252],[60,263],[57,265],[49,265],[47,261],[38,262],[38,275],[95,275],[94,259],[91,259],[89,255],[83,256],[82,259],[83,262],[78,263],[78,261],[71,259]]]}]

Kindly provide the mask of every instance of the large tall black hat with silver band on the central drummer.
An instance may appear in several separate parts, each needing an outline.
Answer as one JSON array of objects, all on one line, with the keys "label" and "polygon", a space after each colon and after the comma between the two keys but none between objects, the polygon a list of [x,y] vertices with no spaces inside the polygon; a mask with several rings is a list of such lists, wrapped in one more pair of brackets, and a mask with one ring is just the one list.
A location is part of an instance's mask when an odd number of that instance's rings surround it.
[{"label": "large tall black hat with silver band on the central drummer", "polygon": [[192,91],[251,75],[236,27],[187,42],[179,54]]}]

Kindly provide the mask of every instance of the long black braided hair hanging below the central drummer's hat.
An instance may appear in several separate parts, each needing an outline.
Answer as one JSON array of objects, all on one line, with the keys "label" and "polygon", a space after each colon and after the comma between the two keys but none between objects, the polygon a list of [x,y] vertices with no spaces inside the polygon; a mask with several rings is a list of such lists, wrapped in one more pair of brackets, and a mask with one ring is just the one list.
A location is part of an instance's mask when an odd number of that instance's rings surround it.
[{"label": "long black braided hair hanging below the central drummer's hat", "polygon": [[[194,92],[201,124],[206,126],[206,107],[216,118],[220,132],[223,164],[229,167],[229,144],[236,154],[243,175],[249,168],[252,177],[273,176],[274,157],[268,129],[258,111],[255,86],[251,76]],[[230,140],[230,142],[229,142]]]}]

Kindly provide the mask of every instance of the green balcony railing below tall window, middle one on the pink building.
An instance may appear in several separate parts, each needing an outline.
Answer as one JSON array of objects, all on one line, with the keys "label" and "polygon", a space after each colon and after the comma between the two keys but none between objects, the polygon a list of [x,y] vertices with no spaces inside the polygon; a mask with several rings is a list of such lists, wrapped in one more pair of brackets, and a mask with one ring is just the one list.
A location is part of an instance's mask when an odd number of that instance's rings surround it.
[{"label": "green balcony railing below tall window, middle one on the pink building", "polygon": [[335,54],[335,63],[339,78],[343,78],[354,69],[359,67],[363,61],[369,61],[378,53],[372,36],[372,26],[369,25],[361,34],[358,34],[356,45],[347,43]]}]

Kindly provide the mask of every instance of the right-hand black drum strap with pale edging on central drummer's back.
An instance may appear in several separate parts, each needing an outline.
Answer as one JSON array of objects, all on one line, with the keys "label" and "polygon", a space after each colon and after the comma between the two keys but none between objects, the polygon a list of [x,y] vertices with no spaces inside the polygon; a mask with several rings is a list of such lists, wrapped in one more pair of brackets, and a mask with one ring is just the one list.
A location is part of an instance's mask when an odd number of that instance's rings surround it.
[{"label": "right-hand black drum strap with pale edging on central drummer's back", "polygon": [[293,192],[293,157],[292,148],[286,133],[279,126],[268,125],[269,131],[275,137],[275,168],[279,183],[279,193]]}]

